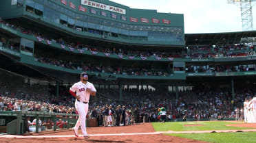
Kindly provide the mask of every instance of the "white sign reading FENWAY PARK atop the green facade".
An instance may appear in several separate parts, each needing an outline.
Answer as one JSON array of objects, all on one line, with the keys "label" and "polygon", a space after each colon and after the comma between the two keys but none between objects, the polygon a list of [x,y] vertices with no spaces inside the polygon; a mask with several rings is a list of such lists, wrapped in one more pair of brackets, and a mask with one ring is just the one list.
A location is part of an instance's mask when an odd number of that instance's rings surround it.
[{"label": "white sign reading FENWAY PARK atop the green facade", "polygon": [[118,7],[111,6],[111,5],[105,5],[103,3],[97,3],[95,1],[81,0],[81,4],[91,6],[91,7],[94,7],[94,8],[99,8],[101,10],[108,10],[110,12],[116,12],[116,13],[119,13],[119,14],[126,14],[126,10],[123,9],[123,8],[118,8]]}]

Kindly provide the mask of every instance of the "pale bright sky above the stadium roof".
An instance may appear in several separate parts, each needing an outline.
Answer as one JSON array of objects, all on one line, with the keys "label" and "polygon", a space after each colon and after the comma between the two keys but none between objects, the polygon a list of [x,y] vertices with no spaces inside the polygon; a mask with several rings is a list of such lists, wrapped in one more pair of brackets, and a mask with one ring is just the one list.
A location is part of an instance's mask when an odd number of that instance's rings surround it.
[{"label": "pale bright sky above the stadium roof", "polygon": [[[242,31],[239,5],[227,0],[110,0],[130,8],[184,14],[185,34]],[[252,3],[256,30],[256,1]]]}]

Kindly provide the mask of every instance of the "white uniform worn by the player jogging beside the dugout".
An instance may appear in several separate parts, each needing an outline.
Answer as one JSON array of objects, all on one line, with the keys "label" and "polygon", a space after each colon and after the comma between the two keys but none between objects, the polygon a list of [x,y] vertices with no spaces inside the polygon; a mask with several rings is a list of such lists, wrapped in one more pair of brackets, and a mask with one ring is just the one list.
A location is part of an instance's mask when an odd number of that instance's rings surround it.
[{"label": "white uniform worn by the player jogging beside the dugout", "polygon": [[81,125],[83,135],[85,136],[87,136],[85,121],[86,121],[86,115],[88,112],[88,104],[89,104],[89,96],[90,96],[90,93],[87,92],[87,88],[92,90],[92,92],[96,92],[94,85],[88,81],[86,84],[83,83],[82,81],[79,81],[77,83],[74,83],[74,85],[70,88],[72,92],[76,92],[76,96],[80,96],[79,101],[76,99],[76,103],[75,103],[76,111],[78,112],[79,118],[76,122],[74,129],[78,131],[78,128]]}]

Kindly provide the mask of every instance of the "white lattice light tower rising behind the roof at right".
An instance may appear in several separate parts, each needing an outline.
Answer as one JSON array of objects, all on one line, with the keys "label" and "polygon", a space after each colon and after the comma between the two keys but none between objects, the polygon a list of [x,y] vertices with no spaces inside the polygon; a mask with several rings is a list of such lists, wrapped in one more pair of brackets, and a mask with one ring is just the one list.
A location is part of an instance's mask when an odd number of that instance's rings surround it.
[{"label": "white lattice light tower rising behind the roof at right", "polygon": [[252,3],[256,0],[228,0],[228,4],[235,4],[241,10],[243,31],[253,30]]}]

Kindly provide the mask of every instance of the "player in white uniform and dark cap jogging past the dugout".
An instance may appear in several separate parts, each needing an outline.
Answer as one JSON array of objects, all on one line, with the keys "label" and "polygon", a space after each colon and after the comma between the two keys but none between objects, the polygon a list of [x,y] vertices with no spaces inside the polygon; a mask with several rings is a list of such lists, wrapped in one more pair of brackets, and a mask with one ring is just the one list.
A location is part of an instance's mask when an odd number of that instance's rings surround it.
[{"label": "player in white uniform and dark cap jogging past the dugout", "polygon": [[76,135],[76,137],[78,137],[78,128],[81,125],[83,138],[87,139],[89,138],[89,135],[87,134],[87,131],[86,131],[85,120],[88,112],[89,96],[90,95],[95,96],[96,89],[94,88],[94,85],[92,83],[87,81],[88,80],[87,73],[85,72],[81,73],[80,79],[81,81],[74,83],[74,85],[70,88],[70,94],[76,97],[75,107],[79,115],[76,125],[74,128],[72,128],[72,130],[74,131],[74,134]]}]

